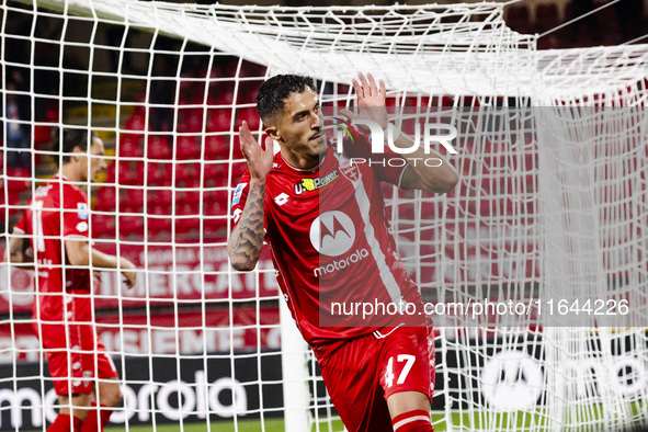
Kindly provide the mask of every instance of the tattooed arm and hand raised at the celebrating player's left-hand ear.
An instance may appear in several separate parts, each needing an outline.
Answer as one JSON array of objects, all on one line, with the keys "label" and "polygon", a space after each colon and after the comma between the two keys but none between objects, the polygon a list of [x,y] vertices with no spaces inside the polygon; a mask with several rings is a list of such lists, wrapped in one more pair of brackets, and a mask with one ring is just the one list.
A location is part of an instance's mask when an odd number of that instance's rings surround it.
[{"label": "tattooed arm and hand raised at the celebrating player's left-hand ear", "polygon": [[241,151],[250,169],[250,190],[239,223],[227,242],[231,266],[238,271],[250,271],[257,266],[263,247],[263,201],[265,178],[272,170],[272,139],[265,138],[265,149],[252,136],[248,124],[239,128]]}]

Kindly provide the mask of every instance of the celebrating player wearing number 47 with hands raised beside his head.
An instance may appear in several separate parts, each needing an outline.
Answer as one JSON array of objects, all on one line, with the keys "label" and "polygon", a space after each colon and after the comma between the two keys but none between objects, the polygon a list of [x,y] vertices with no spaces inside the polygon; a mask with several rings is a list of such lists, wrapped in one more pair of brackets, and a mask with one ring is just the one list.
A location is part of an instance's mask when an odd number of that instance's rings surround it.
[{"label": "celebrating player wearing number 47 with hands raised beside his head", "polygon": [[[360,73],[353,87],[359,113],[344,115],[387,129],[384,82]],[[349,431],[432,431],[434,342],[428,320],[420,314],[411,319],[383,314],[359,322],[357,316],[336,311],[334,304],[422,309],[385,220],[380,182],[445,193],[458,181],[455,169],[422,148],[372,154],[363,133],[337,152],[322,128],[318,90],[307,77],[270,78],[257,110],[268,137],[263,148],[246,122],[239,128],[249,169],[232,197],[232,266],[254,269],[268,240],[288,308]],[[397,147],[412,146],[405,134],[394,135]],[[274,156],[273,140],[281,148]],[[442,163],[421,163],[431,157]]]}]

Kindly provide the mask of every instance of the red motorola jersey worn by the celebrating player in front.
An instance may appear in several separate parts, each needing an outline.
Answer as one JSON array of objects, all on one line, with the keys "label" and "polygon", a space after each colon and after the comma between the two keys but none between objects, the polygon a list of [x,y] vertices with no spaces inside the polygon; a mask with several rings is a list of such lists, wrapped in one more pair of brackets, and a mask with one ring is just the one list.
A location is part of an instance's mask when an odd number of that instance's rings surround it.
[{"label": "red motorola jersey worn by the celebrating player in front", "polygon": [[[367,304],[421,304],[389,232],[380,191],[382,181],[400,184],[407,162],[394,152],[371,155],[365,137],[351,150],[353,160],[329,146],[310,171],[289,166],[278,152],[265,181],[265,240],[293,318],[316,349],[402,322],[388,312],[363,316]],[[235,226],[249,182],[247,171],[232,197]]]}]

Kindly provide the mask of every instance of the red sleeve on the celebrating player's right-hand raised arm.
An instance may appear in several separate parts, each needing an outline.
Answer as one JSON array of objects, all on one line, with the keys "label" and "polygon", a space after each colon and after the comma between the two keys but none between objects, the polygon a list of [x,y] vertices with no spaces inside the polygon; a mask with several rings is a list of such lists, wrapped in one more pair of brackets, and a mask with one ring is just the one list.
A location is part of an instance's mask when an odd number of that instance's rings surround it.
[{"label": "red sleeve on the celebrating player's right-hand raised arm", "polygon": [[[359,144],[351,143],[350,139],[344,141],[344,151],[352,158],[361,158],[370,163],[376,177],[383,181],[400,187],[402,174],[408,167],[407,160],[399,154],[395,152],[385,145],[384,154],[373,154],[370,135],[363,130],[355,129],[357,133]],[[348,150],[349,149],[349,150]]]}]

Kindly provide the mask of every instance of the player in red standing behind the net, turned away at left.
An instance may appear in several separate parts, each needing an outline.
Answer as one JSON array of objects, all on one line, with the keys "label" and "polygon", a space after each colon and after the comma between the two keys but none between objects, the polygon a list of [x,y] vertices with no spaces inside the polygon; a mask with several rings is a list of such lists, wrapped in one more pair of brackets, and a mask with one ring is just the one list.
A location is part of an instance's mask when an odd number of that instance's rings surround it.
[{"label": "player in red standing behind the net, turned away at left", "polygon": [[135,264],[93,249],[88,241],[88,196],[75,183],[95,181],[105,170],[103,141],[94,133],[70,129],[61,139],[61,151],[60,172],[36,189],[13,228],[8,251],[12,262],[33,262],[35,268],[33,328],[60,405],[47,431],[103,431],[122,393],[115,365],[92,321],[90,277],[94,269],[121,269],[132,287]]}]

